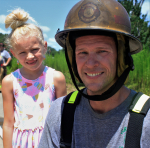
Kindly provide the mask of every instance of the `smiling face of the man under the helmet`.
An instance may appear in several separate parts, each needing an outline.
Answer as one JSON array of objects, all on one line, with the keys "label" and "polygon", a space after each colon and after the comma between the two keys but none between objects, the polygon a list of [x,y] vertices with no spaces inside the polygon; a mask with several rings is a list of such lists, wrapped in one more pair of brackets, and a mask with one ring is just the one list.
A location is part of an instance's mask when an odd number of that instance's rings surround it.
[{"label": "smiling face of the man under the helmet", "polygon": [[79,37],[75,55],[79,76],[89,95],[101,95],[115,83],[117,49],[112,37]]}]

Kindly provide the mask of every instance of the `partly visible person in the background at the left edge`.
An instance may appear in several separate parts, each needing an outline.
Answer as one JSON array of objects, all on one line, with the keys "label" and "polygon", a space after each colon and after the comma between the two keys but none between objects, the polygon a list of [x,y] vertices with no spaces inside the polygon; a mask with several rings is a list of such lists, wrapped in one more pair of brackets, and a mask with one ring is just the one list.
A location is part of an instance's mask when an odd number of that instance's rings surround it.
[{"label": "partly visible person in the background at the left edge", "polygon": [[5,45],[4,43],[0,43],[0,90],[1,90],[1,83],[2,79],[6,76],[7,74],[7,69],[6,66],[10,63],[11,61],[11,56],[8,51],[5,50]]}]

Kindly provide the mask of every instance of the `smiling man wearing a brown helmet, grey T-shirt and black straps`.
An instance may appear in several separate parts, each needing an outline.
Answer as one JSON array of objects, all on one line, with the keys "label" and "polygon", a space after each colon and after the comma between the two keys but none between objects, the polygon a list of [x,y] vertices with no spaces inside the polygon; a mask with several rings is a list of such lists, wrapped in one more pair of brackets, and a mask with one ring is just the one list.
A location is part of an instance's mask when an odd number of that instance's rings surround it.
[{"label": "smiling man wearing a brown helmet, grey T-shirt and black straps", "polygon": [[[131,54],[142,50],[130,34],[126,10],[115,0],[82,0],[70,10],[64,28],[55,38],[65,48],[79,93],[52,104],[39,148],[148,148],[149,97],[142,95],[139,103],[140,95],[124,86],[134,69]],[[85,89],[78,88],[74,75]],[[137,104],[143,104],[141,109]]]}]

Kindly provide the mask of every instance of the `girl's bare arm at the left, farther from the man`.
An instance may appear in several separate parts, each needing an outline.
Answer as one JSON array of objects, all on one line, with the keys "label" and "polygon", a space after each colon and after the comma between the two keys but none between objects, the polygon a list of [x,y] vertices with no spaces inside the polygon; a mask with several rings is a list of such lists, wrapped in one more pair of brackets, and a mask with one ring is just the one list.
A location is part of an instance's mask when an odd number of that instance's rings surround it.
[{"label": "girl's bare arm at the left, farther from the man", "polygon": [[4,148],[12,148],[12,137],[14,129],[14,97],[13,80],[11,75],[7,75],[2,81],[3,96],[3,145]]}]

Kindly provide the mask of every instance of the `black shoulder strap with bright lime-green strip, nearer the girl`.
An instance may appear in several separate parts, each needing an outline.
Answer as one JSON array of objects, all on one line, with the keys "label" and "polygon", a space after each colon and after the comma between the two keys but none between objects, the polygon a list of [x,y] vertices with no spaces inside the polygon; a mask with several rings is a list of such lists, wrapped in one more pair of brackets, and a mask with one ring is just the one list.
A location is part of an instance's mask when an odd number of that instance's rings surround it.
[{"label": "black shoulder strap with bright lime-green strip, nearer the girl", "polygon": [[70,148],[72,141],[72,129],[74,123],[74,113],[79,104],[81,94],[78,91],[68,94],[65,97],[64,108],[61,118],[61,138],[60,148]]}]

